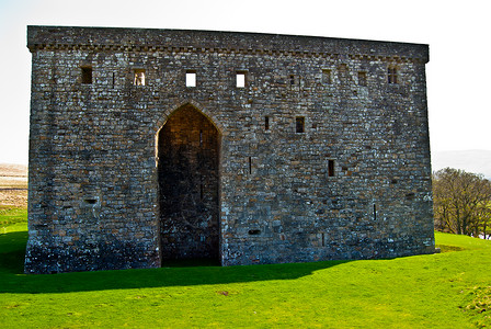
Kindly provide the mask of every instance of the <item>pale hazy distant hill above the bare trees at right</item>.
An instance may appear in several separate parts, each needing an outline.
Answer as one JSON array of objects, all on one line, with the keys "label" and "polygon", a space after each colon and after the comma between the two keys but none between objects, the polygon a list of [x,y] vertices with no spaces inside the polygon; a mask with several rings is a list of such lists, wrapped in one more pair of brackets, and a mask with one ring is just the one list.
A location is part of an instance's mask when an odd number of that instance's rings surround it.
[{"label": "pale hazy distant hill above the bare trees at right", "polygon": [[435,151],[432,167],[433,171],[450,167],[491,179],[491,150]]}]

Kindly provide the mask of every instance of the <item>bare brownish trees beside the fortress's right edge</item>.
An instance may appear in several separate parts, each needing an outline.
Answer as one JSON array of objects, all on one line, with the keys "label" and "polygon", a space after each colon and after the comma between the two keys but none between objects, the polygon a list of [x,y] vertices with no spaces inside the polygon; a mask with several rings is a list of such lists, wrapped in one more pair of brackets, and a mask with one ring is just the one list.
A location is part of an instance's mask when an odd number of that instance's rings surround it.
[{"label": "bare brownish trees beside the fortress's right edge", "polygon": [[435,229],[491,236],[491,182],[481,174],[445,168],[433,173]]}]

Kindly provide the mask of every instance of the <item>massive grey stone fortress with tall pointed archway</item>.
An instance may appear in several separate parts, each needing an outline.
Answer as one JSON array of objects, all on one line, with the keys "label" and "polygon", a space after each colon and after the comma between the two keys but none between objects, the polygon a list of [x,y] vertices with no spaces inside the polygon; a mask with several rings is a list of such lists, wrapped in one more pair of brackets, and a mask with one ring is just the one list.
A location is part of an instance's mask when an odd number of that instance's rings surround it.
[{"label": "massive grey stone fortress with tall pointed archway", "polygon": [[426,45],[28,26],[26,273],[434,251]]}]

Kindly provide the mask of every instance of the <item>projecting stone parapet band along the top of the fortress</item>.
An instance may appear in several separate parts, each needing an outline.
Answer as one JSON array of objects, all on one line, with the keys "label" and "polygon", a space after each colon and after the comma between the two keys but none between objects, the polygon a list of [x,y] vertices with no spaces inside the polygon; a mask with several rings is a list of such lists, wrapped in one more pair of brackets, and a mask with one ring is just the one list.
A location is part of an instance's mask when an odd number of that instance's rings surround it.
[{"label": "projecting stone parapet band along the top of the fortress", "polygon": [[136,50],[144,48],[231,49],[241,53],[340,54],[429,61],[429,45],[426,44],[204,30],[28,25],[27,47],[31,52],[72,47]]}]

